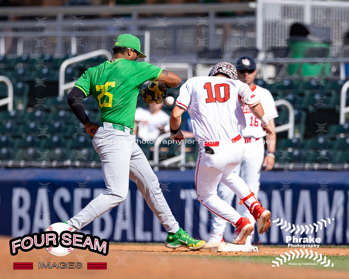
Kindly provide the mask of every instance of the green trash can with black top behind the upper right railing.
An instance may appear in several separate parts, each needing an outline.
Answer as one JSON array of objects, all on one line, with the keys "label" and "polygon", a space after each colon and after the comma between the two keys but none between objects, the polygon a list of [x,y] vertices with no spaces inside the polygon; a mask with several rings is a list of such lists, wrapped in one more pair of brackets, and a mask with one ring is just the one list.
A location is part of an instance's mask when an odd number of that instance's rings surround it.
[{"label": "green trash can with black top behind the upper right railing", "polygon": [[322,62],[330,57],[330,28],[294,23],[290,28],[288,46],[290,58],[315,58],[316,63],[294,63],[289,65],[289,75],[325,76],[331,70],[330,63]]}]

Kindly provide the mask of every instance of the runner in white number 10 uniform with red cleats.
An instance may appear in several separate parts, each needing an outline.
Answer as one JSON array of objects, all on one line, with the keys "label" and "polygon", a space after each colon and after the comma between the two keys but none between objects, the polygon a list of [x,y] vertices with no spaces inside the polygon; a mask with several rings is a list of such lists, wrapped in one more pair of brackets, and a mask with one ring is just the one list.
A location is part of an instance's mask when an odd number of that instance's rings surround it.
[{"label": "runner in white number 10 uniform with red cleats", "polygon": [[238,95],[250,106],[252,113],[262,119],[262,128],[273,134],[260,98],[246,83],[237,80],[236,69],[228,62],[215,65],[208,77],[193,77],[181,86],[171,113],[170,129],[172,139],[183,139],[179,125],[182,113],[188,110],[195,139],[200,144],[195,172],[198,201],[236,226],[237,237],[232,243],[245,244],[254,226],[217,196],[220,181],[229,186],[241,199],[241,203],[249,208],[257,220],[260,233],[265,232],[271,222],[270,211],[261,206],[242,178],[233,172],[245,151],[240,130],[245,128],[246,123]]}]

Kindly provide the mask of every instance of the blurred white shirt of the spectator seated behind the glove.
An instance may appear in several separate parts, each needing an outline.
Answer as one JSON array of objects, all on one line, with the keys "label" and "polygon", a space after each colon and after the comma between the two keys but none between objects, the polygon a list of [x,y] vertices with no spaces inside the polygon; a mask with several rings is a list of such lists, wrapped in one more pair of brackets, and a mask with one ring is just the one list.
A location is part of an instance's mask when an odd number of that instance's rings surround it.
[{"label": "blurred white shirt of the spectator seated behind the glove", "polygon": [[160,126],[164,126],[165,131],[170,130],[170,116],[164,111],[152,114],[147,109],[138,107],[134,120],[147,121],[147,123],[138,123],[137,136],[144,141],[155,141],[160,135],[158,128]]}]

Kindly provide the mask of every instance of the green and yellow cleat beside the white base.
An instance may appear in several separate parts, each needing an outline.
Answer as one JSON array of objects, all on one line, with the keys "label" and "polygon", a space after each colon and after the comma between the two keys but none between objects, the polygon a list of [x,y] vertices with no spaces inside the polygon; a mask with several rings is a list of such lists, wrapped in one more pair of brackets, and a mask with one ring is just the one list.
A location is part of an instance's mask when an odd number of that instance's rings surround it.
[{"label": "green and yellow cleat beside the white base", "polygon": [[200,250],[205,247],[206,242],[203,240],[196,240],[189,236],[186,231],[179,228],[177,233],[168,233],[165,241],[165,245],[168,248],[176,249],[178,247],[186,247],[190,250]]}]

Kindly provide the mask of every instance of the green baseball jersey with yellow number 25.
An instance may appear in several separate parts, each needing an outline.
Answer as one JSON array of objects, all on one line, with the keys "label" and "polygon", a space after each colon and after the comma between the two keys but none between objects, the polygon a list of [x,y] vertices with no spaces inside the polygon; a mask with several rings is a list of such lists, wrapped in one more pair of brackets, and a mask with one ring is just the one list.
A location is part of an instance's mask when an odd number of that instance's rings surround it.
[{"label": "green baseball jersey with yellow number 25", "polygon": [[86,97],[93,95],[101,110],[101,122],[134,128],[137,96],[140,86],[154,81],[162,69],[147,62],[119,58],[89,68],[76,81]]}]

